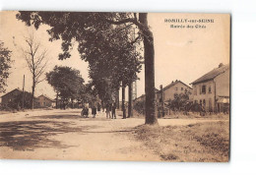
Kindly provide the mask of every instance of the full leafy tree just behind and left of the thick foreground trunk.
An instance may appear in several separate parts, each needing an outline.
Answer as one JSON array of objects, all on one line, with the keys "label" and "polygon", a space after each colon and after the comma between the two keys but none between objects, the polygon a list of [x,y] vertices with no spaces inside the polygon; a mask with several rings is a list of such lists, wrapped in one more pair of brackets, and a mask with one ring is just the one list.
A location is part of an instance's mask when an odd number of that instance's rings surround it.
[{"label": "full leafy tree just behind and left of the thick foreground trunk", "polygon": [[[120,87],[125,88],[138,79],[136,73],[141,70],[142,57],[132,43],[135,40],[131,40],[131,29],[131,26],[123,25],[105,31],[104,35],[98,37],[100,42],[92,45],[93,48],[87,56],[90,63],[90,77],[98,90],[99,97],[103,96],[106,101],[116,96],[116,91]],[[124,95],[122,93],[122,96]],[[122,101],[124,104],[125,97],[122,97]],[[125,108],[122,110],[125,111]]]}]

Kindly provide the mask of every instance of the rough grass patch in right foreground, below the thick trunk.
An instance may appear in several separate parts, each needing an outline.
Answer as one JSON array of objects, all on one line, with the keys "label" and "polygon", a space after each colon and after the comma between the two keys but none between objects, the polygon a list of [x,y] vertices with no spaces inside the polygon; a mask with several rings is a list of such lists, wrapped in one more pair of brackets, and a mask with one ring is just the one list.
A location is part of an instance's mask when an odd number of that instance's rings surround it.
[{"label": "rough grass patch in right foreground, below the thick trunk", "polygon": [[163,161],[228,161],[227,121],[165,127],[142,125],[136,127],[135,137],[153,149]]}]

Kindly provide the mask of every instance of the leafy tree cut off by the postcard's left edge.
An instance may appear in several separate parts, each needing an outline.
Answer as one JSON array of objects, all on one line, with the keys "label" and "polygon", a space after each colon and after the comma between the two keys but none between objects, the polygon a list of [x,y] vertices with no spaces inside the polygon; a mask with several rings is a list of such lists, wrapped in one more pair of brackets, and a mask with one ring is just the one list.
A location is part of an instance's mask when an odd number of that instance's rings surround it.
[{"label": "leafy tree cut off by the postcard's left edge", "polygon": [[8,48],[4,47],[4,42],[0,40],[0,92],[4,92],[7,86],[7,79],[10,75],[9,69],[11,68],[11,52]]}]

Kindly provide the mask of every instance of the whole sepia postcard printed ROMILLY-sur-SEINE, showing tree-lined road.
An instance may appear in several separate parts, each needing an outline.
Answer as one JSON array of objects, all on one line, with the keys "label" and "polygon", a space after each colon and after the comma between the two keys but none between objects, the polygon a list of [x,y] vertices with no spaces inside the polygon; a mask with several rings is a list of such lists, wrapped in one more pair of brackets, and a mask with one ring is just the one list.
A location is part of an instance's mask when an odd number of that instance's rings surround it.
[{"label": "whole sepia postcard printed ROMILLY-sur-SEINE, showing tree-lined road", "polygon": [[0,158],[228,162],[230,15],[0,12]]}]

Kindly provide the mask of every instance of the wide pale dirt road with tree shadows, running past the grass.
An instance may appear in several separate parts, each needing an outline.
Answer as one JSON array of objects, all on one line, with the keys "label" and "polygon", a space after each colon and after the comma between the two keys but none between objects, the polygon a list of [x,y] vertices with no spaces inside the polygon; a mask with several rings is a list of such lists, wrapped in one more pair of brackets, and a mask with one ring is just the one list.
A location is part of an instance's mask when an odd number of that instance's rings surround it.
[{"label": "wide pale dirt road with tree shadows, running past the grass", "polygon": [[[40,110],[0,115],[0,158],[75,160],[161,160],[134,137],[144,119],[80,116],[80,109]],[[160,119],[164,125],[202,120]],[[204,120],[207,121],[207,120]],[[211,121],[211,120],[210,120]]]}]

